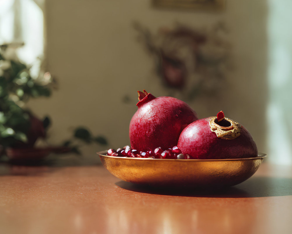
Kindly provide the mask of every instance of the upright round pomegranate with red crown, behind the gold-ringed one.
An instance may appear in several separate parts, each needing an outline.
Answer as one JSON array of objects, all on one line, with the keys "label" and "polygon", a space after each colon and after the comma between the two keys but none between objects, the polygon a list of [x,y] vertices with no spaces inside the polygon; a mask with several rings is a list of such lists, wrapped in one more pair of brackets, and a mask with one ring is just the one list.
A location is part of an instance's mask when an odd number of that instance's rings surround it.
[{"label": "upright round pomegranate with red crown, behind the gold-ringed one", "polygon": [[138,110],[130,122],[131,147],[138,151],[168,149],[176,146],[182,130],[197,114],[185,102],[174,97],[154,97],[138,91]]}]

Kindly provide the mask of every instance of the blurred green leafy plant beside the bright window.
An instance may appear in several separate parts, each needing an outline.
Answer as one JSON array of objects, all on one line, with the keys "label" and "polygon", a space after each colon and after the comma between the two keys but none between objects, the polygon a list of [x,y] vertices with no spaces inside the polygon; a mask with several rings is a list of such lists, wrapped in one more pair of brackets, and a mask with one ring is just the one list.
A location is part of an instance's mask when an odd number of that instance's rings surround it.
[{"label": "blurred green leafy plant beside the bright window", "polygon": [[[50,118],[39,120],[24,104],[30,98],[49,97],[56,80],[51,74],[41,73],[33,77],[30,67],[20,62],[15,48],[0,45],[0,151],[6,148],[33,147],[36,140],[46,137]],[[107,144],[102,136],[92,136],[86,128],[76,128],[72,139],[64,143],[71,152],[80,154],[73,140],[89,143]],[[1,155],[0,152],[0,155]]]}]

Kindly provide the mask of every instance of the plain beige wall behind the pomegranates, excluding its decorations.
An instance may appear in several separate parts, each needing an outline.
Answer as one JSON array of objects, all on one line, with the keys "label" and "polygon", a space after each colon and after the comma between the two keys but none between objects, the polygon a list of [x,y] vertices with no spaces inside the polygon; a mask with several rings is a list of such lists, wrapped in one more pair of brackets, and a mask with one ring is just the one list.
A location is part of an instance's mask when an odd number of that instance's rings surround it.
[{"label": "plain beige wall behind the pomegranates, excluding its decorations", "polygon": [[[84,125],[103,134],[109,147],[129,144],[128,125],[137,107],[137,90],[155,96],[167,95],[159,79],[153,78],[154,64],[136,41],[131,26],[137,20],[152,32],[181,22],[209,27],[223,20],[230,28],[235,69],[228,73],[228,92],[220,98],[198,98],[189,104],[200,118],[224,110],[243,124],[265,152],[265,107],[267,99],[266,5],[265,1],[227,0],[226,11],[202,13],[157,10],[150,0],[46,1],[47,68],[58,78],[59,90],[50,99],[30,102],[42,116],[53,120],[49,142],[69,137],[74,126]],[[131,103],[121,97],[128,94]],[[85,157],[104,147],[84,147]]]}]

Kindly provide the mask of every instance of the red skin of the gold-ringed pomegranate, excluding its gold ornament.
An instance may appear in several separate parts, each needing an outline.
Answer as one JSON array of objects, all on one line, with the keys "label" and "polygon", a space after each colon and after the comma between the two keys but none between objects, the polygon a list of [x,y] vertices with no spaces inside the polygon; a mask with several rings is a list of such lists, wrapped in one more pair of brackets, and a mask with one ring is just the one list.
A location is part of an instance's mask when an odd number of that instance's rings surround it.
[{"label": "red skin of the gold-ringed pomegranate, excluding its gold ornament", "polygon": [[180,134],[178,148],[194,159],[235,159],[258,156],[256,143],[241,125],[240,136],[231,140],[221,139],[210,130],[212,117],[199,119],[188,125]]}]

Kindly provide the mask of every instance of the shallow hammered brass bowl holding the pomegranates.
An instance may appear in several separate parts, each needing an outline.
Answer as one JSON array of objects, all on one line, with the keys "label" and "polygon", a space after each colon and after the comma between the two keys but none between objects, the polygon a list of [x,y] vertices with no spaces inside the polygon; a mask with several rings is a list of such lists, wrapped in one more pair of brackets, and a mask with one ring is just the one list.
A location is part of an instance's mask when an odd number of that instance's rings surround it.
[{"label": "shallow hammered brass bowl holding the pomegranates", "polygon": [[223,187],[250,178],[266,157],[242,159],[149,159],[107,156],[103,166],[117,178],[154,187]]}]

